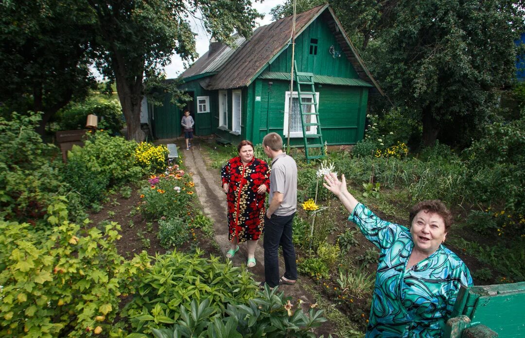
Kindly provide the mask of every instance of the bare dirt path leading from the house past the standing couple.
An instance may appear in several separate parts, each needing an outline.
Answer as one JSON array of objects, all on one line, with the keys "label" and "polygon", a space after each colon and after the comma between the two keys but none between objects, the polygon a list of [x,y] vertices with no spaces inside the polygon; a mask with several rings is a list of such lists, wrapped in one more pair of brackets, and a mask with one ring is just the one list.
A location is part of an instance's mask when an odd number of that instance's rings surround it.
[{"label": "bare dirt path leading from the house past the standing couple", "polygon": [[[194,144],[190,150],[180,147],[181,155],[184,158],[184,166],[186,171],[193,173],[193,182],[195,183],[195,189],[201,205],[203,206],[203,212],[206,216],[211,218],[214,223],[215,229],[215,241],[223,255],[226,255],[226,251],[229,249],[228,241],[228,228],[226,223],[226,197],[224,192],[220,188],[220,174],[218,171],[208,171],[204,158],[204,153],[201,151],[201,142],[204,140],[194,139]],[[162,142],[163,143],[163,142]],[[176,141],[177,145],[182,145],[181,141]],[[264,240],[264,239],[263,239]],[[237,252],[235,257],[232,259],[235,266],[241,266],[245,263],[248,258],[246,244],[239,246],[240,250]],[[257,265],[254,268],[250,268],[254,274],[256,281],[264,280],[264,249],[262,248],[262,240],[257,244],[255,251],[255,258]],[[281,274],[285,271],[284,262],[280,257],[280,272]],[[302,299],[306,305],[310,305],[314,302],[314,298],[311,294],[307,293],[301,286],[300,281],[295,286],[282,285],[279,287],[280,290],[284,291],[286,295],[292,297],[292,299]]]}]

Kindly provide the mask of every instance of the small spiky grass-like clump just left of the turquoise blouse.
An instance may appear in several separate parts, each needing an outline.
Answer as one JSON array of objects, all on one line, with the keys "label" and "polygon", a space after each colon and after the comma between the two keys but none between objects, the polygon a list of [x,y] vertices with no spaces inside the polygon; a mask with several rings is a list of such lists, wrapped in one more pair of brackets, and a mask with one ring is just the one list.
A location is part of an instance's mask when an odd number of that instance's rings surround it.
[{"label": "small spiky grass-like clump just left of the turquoise blouse", "polygon": [[341,295],[345,298],[365,298],[372,294],[374,288],[374,275],[365,271],[364,266],[348,272],[339,272],[337,283]]}]

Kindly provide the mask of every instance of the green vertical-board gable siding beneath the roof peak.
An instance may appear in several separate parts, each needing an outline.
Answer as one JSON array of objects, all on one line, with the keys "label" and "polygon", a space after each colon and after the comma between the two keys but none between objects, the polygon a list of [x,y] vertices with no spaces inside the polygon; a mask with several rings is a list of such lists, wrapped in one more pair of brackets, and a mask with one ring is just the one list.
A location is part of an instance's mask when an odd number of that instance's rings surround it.
[{"label": "green vertical-board gable siding beneath the roof peak", "polygon": [[[310,55],[310,39],[317,39],[317,55]],[[340,78],[359,78],[351,62],[346,58],[337,39],[333,36],[326,22],[317,18],[296,39],[295,59],[299,71],[311,72],[316,75]],[[329,50],[334,46],[341,56],[333,57]],[[290,72],[291,45],[268,67],[271,72]]]}]

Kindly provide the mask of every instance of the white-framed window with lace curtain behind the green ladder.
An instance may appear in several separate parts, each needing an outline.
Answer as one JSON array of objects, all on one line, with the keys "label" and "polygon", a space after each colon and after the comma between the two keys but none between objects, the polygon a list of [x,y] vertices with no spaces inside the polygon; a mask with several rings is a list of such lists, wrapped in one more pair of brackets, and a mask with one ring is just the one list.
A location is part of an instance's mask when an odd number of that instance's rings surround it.
[{"label": "white-framed window with lace curtain behind the green ladder", "polygon": [[[313,102],[313,96],[301,95],[302,102]],[[316,92],[317,108],[319,109],[319,93]],[[288,105],[290,101],[290,92],[286,92],[285,99],[285,124],[283,134],[288,137]],[[313,104],[303,104],[302,110],[305,113],[313,113]],[[316,115],[304,115],[304,123],[316,123]],[[317,125],[310,125],[306,127],[307,134],[317,134]],[[297,92],[293,92],[292,95],[292,113],[290,119],[290,138],[302,138],[302,124],[301,124],[301,111],[299,110],[299,97]]]}]

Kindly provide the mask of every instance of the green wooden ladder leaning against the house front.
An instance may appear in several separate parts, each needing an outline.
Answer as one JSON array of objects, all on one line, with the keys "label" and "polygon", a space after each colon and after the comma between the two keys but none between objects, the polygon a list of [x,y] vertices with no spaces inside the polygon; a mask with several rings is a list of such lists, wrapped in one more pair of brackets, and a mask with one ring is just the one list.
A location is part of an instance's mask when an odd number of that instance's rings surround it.
[{"label": "green wooden ladder leaning against the house front", "polygon": [[[301,112],[301,124],[302,124],[302,139],[304,142],[304,154],[306,155],[307,163],[310,163],[310,160],[319,159],[324,157],[324,144],[323,144],[323,135],[321,133],[321,123],[319,121],[319,113],[317,111],[317,97],[316,89],[313,86],[313,73],[300,72],[297,71],[297,62],[293,61],[293,70],[295,73],[295,80],[297,83],[297,97],[299,103],[299,111]],[[306,80],[305,80],[306,78]],[[302,86],[309,86],[307,90],[302,91]],[[303,102],[302,96],[311,95],[311,102]],[[303,105],[312,105],[313,109],[310,112],[305,112]],[[291,108],[290,108],[291,110]],[[290,111],[291,114],[291,111]],[[309,115],[314,115],[316,117],[316,122],[306,122],[309,118]],[[306,129],[309,126],[317,126],[317,132],[315,134],[307,134]],[[311,151],[319,149],[320,155],[311,155]]]}]

